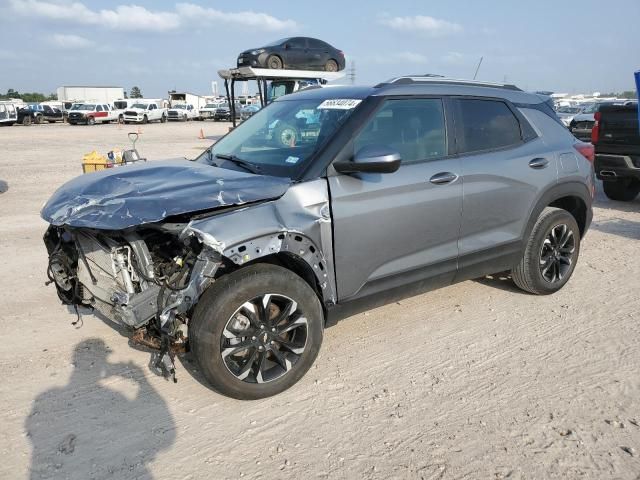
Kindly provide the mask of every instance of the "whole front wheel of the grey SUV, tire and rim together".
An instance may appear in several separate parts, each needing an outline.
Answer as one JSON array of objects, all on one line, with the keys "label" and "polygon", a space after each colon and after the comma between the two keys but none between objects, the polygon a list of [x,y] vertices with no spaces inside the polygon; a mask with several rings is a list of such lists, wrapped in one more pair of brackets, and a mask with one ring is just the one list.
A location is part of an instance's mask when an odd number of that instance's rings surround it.
[{"label": "whole front wheel of the grey SUV, tire and rim together", "polygon": [[302,278],[257,264],[207,289],[189,325],[189,342],[216,390],[253,400],[303,377],[320,351],[323,328],[320,300]]}]

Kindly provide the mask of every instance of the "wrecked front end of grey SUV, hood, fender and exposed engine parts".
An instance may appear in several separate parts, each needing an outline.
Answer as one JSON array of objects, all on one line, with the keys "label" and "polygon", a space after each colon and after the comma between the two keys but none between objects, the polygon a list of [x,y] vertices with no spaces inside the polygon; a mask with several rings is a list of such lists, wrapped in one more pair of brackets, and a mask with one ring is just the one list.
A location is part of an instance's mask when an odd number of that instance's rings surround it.
[{"label": "wrecked front end of grey SUV, hood, fender and exposed engine parts", "polygon": [[226,273],[274,263],[335,303],[324,179],[292,185],[187,161],[154,163],[83,175],[44,206],[47,275],[64,304],[128,327],[175,380],[173,359],[189,348],[194,308]]}]

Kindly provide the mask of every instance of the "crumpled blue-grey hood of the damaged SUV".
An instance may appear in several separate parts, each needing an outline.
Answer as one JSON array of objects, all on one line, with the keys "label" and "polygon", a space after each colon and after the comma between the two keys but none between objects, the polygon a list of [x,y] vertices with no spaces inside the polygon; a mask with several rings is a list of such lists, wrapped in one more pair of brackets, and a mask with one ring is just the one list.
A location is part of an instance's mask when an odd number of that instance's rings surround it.
[{"label": "crumpled blue-grey hood of the damaged SUV", "polygon": [[171,215],[282,196],[287,178],[254,175],[188,160],[165,160],[89,173],[60,187],[42,208],[53,225],[121,230]]}]

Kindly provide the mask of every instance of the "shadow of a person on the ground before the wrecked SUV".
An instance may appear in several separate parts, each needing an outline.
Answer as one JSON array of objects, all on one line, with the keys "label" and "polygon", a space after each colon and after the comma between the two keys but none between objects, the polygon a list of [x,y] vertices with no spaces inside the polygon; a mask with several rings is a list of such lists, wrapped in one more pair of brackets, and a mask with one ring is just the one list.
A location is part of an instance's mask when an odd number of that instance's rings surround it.
[{"label": "shadow of a person on the ground before the wrecked SUV", "polygon": [[78,343],[69,382],[33,401],[31,479],[153,478],[147,466],[175,442],[175,422],[144,371],[109,355],[100,339]]}]

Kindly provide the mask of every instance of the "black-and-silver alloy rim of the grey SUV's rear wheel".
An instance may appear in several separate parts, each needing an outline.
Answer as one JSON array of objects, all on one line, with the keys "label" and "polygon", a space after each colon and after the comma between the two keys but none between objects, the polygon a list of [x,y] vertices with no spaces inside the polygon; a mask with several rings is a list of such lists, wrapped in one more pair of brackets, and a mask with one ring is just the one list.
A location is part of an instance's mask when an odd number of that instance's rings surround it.
[{"label": "black-and-silver alloy rim of the grey SUV's rear wheel", "polygon": [[576,239],[564,223],[554,225],[540,249],[540,273],[549,283],[561,281],[573,265]]}]

